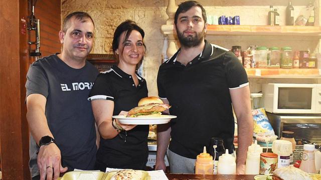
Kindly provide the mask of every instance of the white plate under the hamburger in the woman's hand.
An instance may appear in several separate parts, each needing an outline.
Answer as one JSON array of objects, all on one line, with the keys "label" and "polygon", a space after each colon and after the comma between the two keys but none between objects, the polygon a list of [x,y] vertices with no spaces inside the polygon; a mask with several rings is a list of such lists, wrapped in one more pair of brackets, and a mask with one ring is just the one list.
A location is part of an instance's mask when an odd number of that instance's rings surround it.
[{"label": "white plate under the hamburger in the woman's hand", "polygon": [[162,115],[161,117],[125,117],[124,115],[113,115],[112,118],[118,119],[125,124],[163,124],[168,123],[176,115]]}]

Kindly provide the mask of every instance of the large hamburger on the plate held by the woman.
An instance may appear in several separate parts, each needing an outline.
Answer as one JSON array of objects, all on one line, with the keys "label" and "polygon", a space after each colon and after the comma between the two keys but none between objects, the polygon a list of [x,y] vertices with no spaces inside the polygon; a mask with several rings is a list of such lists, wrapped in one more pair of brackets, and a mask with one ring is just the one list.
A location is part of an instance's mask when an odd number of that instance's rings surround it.
[{"label": "large hamburger on the plate held by the woman", "polygon": [[138,106],[128,111],[127,117],[160,117],[170,107],[158,97],[144,97],[138,101]]}]

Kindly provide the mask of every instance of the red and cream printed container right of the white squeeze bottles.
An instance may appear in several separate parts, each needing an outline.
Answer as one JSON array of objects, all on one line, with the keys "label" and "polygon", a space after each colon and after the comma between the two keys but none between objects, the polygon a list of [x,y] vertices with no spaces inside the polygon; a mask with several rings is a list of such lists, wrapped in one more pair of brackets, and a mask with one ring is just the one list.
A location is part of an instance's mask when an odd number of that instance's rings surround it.
[{"label": "red and cream printed container right of the white squeeze bottles", "polygon": [[260,156],[260,174],[273,173],[277,167],[277,154],[272,152],[263,152]]}]

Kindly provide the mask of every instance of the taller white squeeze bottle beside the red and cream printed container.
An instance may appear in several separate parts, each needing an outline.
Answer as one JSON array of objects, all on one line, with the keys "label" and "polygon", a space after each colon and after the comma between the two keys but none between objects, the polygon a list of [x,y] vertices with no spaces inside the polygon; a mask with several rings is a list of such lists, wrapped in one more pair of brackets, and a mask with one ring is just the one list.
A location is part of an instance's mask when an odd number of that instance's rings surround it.
[{"label": "taller white squeeze bottle beside the red and cream printed container", "polygon": [[263,152],[263,147],[257,144],[250,145],[247,150],[245,174],[259,174],[260,173],[260,155]]}]

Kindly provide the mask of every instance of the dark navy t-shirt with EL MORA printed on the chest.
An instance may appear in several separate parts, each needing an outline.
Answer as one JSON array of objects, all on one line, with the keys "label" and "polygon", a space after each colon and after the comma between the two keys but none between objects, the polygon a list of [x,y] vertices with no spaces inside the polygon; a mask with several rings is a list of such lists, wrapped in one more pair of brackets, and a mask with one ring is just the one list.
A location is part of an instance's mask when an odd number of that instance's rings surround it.
[{"label": "dark navy t-shirt with EL MORA printed on the chest", "polygon": [[[45,114],[49,129],[61,151],[62,166],[68,166],[68,170],[94,168],[96,130],[87,97],[97,75],[97,68],[88,61],[84,67],[75,69],[57,55],[37,60],[27,74],[27,96],[39,93],[47,98]],[[32,135],[30,139],[29,165],[35,176],[39,174],[39,148]]]}]

